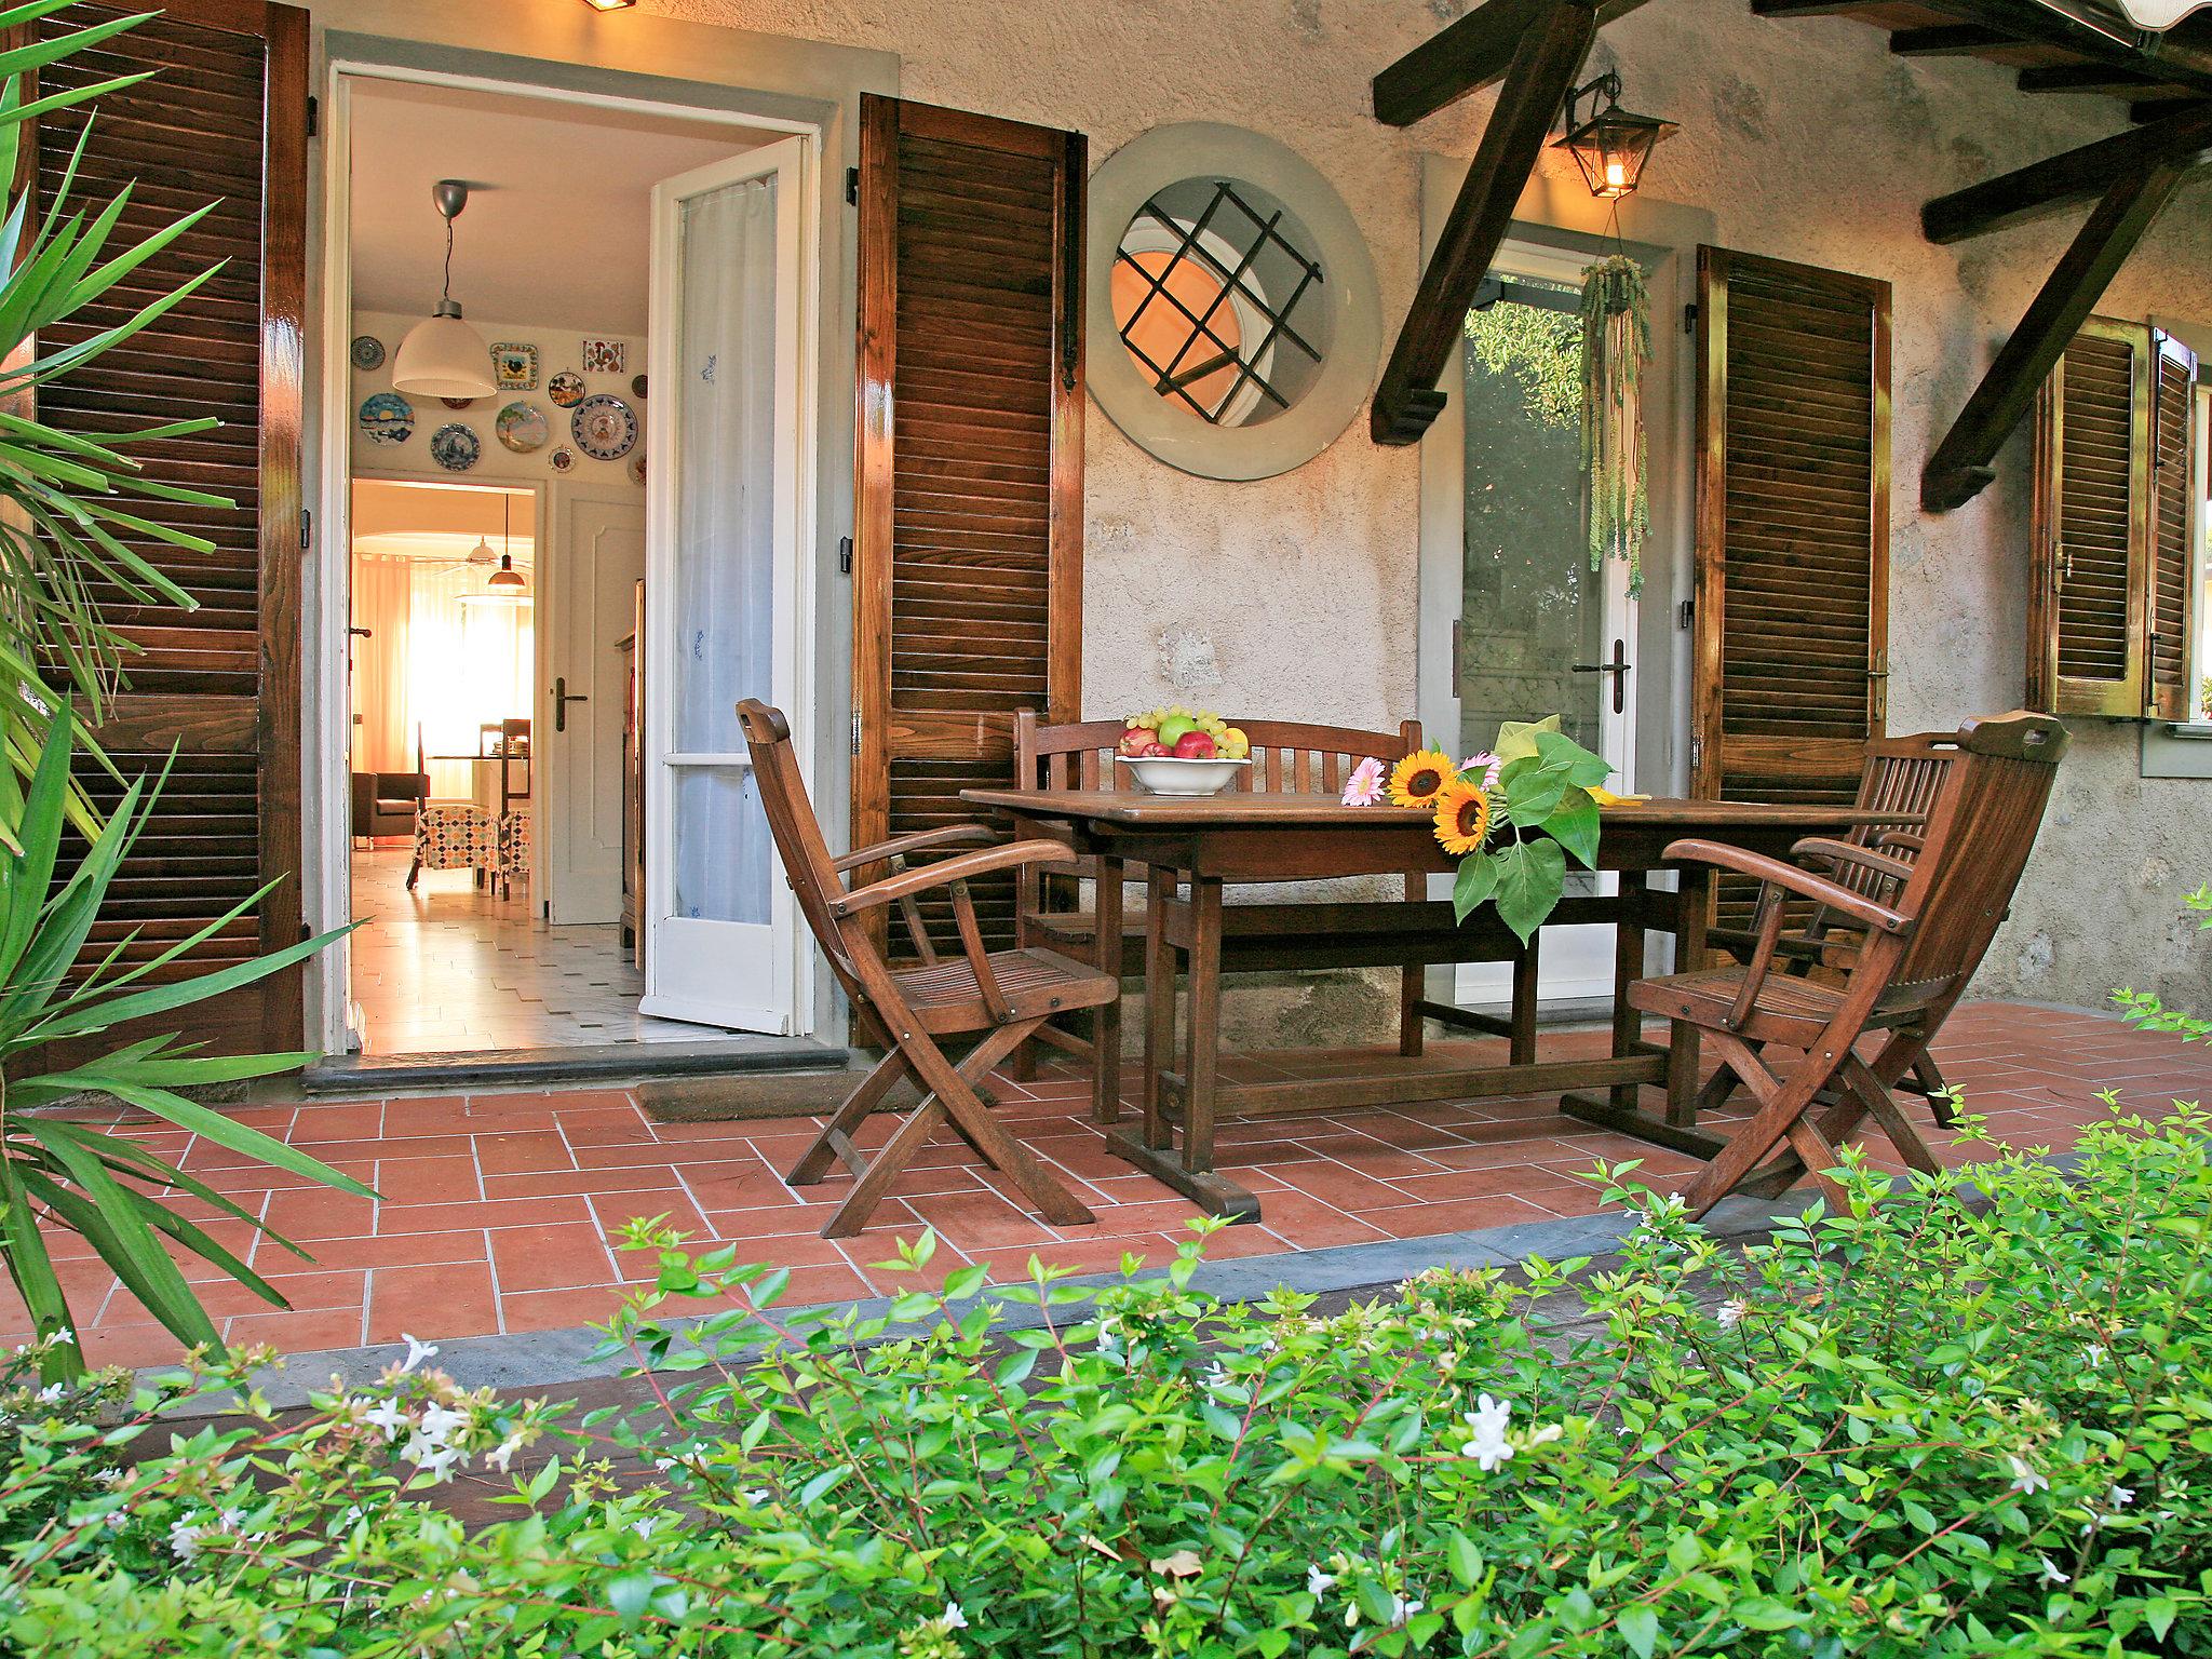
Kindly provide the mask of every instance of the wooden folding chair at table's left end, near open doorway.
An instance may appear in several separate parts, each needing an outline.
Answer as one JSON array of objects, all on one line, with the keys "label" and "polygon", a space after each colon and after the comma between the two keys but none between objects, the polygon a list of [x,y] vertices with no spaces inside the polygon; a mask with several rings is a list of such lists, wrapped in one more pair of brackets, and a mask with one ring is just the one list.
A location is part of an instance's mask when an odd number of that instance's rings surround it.
[{"label": "wooden folding chair at table's left end, near open doorway", "polygon": [[[783,714],[750,697],[737,712],[745,726],[745,748],[752,752],[752,774],[768,810],[768,827],[776,838],[776,854],[783,858],[783,874],[799,898],[799,909],[814,929],[823,956],[830,958],[830,971],[887,1051],[883,1064],[832,1113],[823,1133],[785,1177],[792,1186],[812,1186],[830,1172],[832,1161],[843,1161],[854,1172],[854,1188],[830,1217],[823,1237],[843,1239],[865,1228],[891,1181],[929,1144],[940,1124],[951,1124],[991,1168],[1011,1177],[1046,1221],[1055,1225],[1095,1221],[975,1091],[991,1066],[1020,1048],[1055,1013],[1095,1009],[1119,995],[1119,984],[1110,975],[1055,951],[987,951],[975,922],[967,887],[971,878],[993,869],[1071,863],[1075,854],[1051,841],[987,845],[931,865],[905,867],[847,891],[845,872],[991,836],[980,825],[945,825],[834,858],[807,801],[805,781],[799,776],[792,730]],[[936,956],[909,909],[916,894],[938,887],[951,889],[960,931],[958,960]],[[867,911],[883,905],[907,909],[907,922],[922,953],[918,967],[894,971],[869,938]],[[973,1040],[973,1048],[953,1064],[940,1046],[947,1037]],[[916,1079],[922,1099],[869,1159],[852,1133],[907,1077]]]}]

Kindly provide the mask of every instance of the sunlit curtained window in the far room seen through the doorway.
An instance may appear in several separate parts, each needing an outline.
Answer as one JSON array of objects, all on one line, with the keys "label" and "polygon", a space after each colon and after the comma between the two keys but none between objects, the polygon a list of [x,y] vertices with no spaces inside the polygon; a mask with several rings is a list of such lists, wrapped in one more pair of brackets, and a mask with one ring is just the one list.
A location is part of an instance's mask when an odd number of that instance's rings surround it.
[{"label": "sunlit curtained window in the far room seen through the doorway", "polygon": [[[460,602],[482,591],[484,571],[476,566],[354,557],[354,617],[365,615],[363,595],[374,597],[378,617],[361,622],[376,635],[354,641],[358,730],[369,743],[374,723],[374,743],[383,748],[398,732],[398,754],[389,763],[378,761],[376,770],[411,772],[418,741],[429,757],[476,754],[484,721],[529,717],[533,606]],[[372,688],[374,708],[365,703]],[[473,768],[431,759],[429,792],[467,799]]]}]

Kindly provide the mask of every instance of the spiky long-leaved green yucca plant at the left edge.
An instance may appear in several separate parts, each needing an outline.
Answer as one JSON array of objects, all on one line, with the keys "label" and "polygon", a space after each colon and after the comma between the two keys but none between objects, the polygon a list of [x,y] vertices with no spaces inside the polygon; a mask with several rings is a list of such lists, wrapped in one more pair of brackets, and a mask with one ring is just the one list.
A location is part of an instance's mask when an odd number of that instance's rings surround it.
[{"label": "spiky long-leaved green yucca plant at the left edge", "polygon": [[[0,40],[22,38],[64,4],[69,0],[0,7]],[[146,80],[144,73],[117,75],[24,102],[22,77],[150,15],[113,18],[0,51],[0,177],[20,177],[29,119]],[[142,504],[232,507],[223,495],[148,478],[131,453],[148,442],[206,431],[217,425],[212,418],[102,434],[95,442],[44,425],[24,409],[33,403],[27,394],[131,338],[221,270],[199,272],[75,345],[46,349],[42,338],[51,341],[55,325],[161,254],[215,206],[210,201],[115,248],[115,230],[131,201],[128,186],[93,208],[77,206],[73,197],[88,137],[91,122],[35,228],[35,188],[29,184],[13,190],[0,221],[0,363],[11,365],[0,367],[0,748],[7,752],[0,763],[0,1259],[40,1336],[75,1327],[42,1232],[66,1228],[84,1234],[131,1294],[181,1340],[217,1343],[217,1329],[170,1245],[204,1256],[279,1307],[283,1296],[164,1199],[190,1194],[221,1214],[248,1223],[254,1217],[131,1139],[38,1115],[35,1108],[104,1095],[347,1192],[367,1188],[179,1093],[290,1071],[312,1060],[310,1053],[208,1055],[204,1044],[157,1035],[64,1071],[35,1071],[40,1053],[55,1044],[66,1044],[69,1053],[84,1051],[102,1031],[252,984],[336,938],[325,933],[190,980],[161,978],[228,922],[252,914],[268,894],[263,889],[146,960],[133,960],[133,933],[91,969],[80,967],[108,883],[146,827],[159,792],[159,781],[122,779],[93,737],[108,699],[128,684],[126,661],[135,650],[131,637],[102,613],[102,595],[133,606],[192,608],[190,593],[126,538],[210,553],[212,542],[148,518]],[[113,812],[102,814],[71,776],[75,754],[91,757],[124,783]],[[71,830],[84,852],[55,880]],[[46,1343],[42,1352],[49,1376],[82,1369],[75,1343]]]}]

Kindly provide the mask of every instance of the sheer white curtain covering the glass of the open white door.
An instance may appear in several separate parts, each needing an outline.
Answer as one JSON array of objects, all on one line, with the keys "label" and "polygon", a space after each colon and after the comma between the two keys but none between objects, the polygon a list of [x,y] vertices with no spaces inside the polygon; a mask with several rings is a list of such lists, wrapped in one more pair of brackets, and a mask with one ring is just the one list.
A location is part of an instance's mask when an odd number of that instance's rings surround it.
[{"label": "sheer white curtain covering the glass of the open white door", "polygon": [[[672,748],[743,754],[737,701],[774,692],[776,181],[710,190],[681,215]],[[752,774],[672,772],[675,914],[768,922]]]}]

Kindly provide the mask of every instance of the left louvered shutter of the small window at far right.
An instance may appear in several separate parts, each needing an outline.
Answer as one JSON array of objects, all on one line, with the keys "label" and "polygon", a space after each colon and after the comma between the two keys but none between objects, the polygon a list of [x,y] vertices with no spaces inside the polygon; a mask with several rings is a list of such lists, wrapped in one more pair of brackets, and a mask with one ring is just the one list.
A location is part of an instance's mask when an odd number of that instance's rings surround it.
[{"label": "left louvered shutter of the small window at far right", "polygon": [[2150,327],[2093,316],[2035,411],[2028,706],[2141,714],[2150,571]]}]

